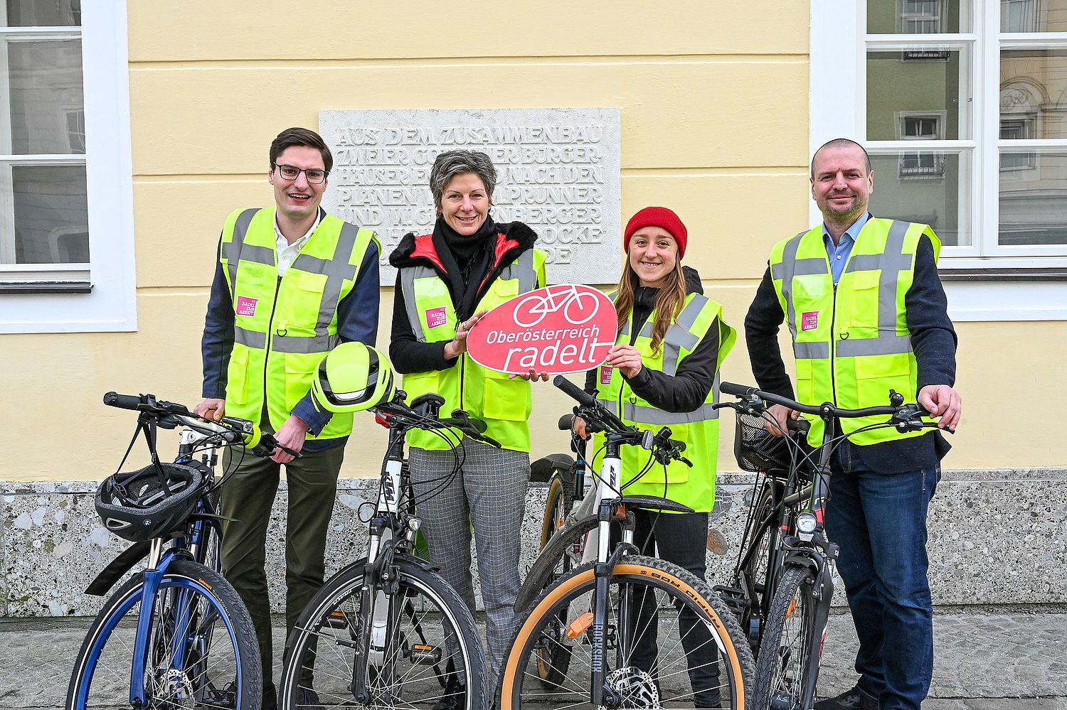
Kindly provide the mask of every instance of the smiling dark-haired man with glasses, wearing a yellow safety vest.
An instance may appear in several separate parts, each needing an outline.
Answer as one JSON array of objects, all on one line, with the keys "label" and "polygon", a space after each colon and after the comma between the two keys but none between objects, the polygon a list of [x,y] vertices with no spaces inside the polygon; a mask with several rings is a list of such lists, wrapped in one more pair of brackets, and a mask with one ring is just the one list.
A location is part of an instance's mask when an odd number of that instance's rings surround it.
[{"label": "smiling dark-haired man with glasses, wearing a yellow safety vest", "polygon": [[[316,407],[312,376],[337,343],[375,344],[378,255],[369,229],[319,207],[333,156],[315,131],[289,128],[270,146],[274,207],[239,209],[222,228],[202,351],[206,398],[196,414],[259,422],[282,448],[237,454],[222,488],[222,567],[248,607],[264,665],[264,710],[276,707],[264,563],[281,465],[289,484],[286,633],[322,585],[327,529],[352,415]],[[286,451],[288,450],[288,451]],[[297,458],[289,452],[302,452]],[[223,464],[230,470],[230,454]],[[317,705],[309,690],[299,698]]]}]

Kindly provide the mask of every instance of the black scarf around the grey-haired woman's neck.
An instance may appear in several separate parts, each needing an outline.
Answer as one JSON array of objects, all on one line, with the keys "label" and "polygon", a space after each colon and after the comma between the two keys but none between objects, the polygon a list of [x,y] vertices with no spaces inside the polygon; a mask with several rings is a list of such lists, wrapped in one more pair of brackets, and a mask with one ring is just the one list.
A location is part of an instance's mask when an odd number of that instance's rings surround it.
[{"label": "black scarf around the grey-haired woman's neck", "polygon": [[492,263],[495,237],[496,223],[489,215],[469,236],[457,232],[441,216],[433,225],[433,244],[448,275],[448,292],[460,320],[474,314],[478,287]]}]

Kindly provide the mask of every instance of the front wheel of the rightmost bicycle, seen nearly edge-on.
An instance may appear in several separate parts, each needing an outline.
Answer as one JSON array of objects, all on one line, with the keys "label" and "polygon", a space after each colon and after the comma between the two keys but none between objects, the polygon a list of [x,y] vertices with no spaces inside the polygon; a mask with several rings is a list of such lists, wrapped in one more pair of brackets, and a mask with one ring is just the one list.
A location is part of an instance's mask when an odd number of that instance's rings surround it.
[{"label": "front wheel of the rightmost bicycle, seen nearly edge-on", "polygon": [[800,565],[786,566],[779,578],[755,663],[757,710],[769,709],[771,700],[779,705],[779,699],[792,701],[790,707],[800,707],[811,659],[811,644],[807,641],[822,644],[822,639],[811,635],[815,616],[812,581],[811,569]]}]

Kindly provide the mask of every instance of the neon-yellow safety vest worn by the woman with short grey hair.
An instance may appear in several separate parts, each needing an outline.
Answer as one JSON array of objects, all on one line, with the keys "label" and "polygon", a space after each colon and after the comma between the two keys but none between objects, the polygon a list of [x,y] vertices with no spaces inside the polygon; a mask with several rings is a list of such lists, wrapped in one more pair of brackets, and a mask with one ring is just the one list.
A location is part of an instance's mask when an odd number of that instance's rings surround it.
[{"label": "neon-yellow safety vest worn by the woman with short grey hair", "polygon": [[[475,312],[495,308],[520,293],[544,286],[545,259],[540,249],[526,249],[493,279],[478,302]],[[437,272],[428,265],[400,268],[400,284],[412,333],[419,342],[451,340],[456,337],[456,307],[446,284]],[[509,380],[503,372],[488,370],[463,353],[453,367],[428,370],[403,375],[403,390],[409,401],[427,392],[445,398],[441,407],[447,417],[453,409],[464,409],[475,419],[485,422],[485,435],[500,442],[505,449],[530,450],[529,419],[532,410],[530,384],[515,377]],[[453,432],[453,443],[461,435]],[[440,436],[413,430],[408,433],[408,445],[432,451],[448,449]]]}]

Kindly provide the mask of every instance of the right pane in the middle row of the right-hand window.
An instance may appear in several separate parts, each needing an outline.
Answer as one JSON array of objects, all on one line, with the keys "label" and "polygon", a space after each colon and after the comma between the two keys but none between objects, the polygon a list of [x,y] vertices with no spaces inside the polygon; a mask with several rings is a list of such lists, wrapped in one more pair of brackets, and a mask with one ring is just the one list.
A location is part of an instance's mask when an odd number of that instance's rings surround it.
[{"label": "right pane in the middle row of the right-hand window", "polygon": [[[1067,50],[1004,50],[1000,78],[1002,139],[1067,138]],[[1020,134],[1005,135],[1016,125]]]}]

